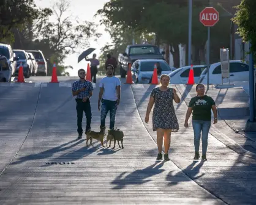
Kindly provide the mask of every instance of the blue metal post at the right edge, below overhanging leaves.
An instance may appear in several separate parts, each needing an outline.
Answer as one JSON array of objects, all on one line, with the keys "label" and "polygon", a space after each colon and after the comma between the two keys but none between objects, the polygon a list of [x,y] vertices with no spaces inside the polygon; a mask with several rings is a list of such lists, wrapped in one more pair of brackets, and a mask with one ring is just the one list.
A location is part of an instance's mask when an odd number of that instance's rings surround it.
[{"label": "blue metal post at the right edge, below overhanging leaves", "polygon": [[[251,43],[249,41],[249,51]],[[249,93],[250,93],[250,122],[254,121],[254,55],[249,54]]]}]

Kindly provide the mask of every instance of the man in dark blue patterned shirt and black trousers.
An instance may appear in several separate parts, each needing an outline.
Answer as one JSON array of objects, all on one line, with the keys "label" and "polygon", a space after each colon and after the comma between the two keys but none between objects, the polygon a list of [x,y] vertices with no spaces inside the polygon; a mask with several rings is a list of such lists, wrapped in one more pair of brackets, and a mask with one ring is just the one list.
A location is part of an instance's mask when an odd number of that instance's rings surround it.
[{"label": "man in dark blue patterned shirt and black trousers", "polygon": [[83,121],[83,112],[86,115],[86,132],[91,129],[91,104],[89,98],[92,96],[93,86],[92,83],[86,81],[85,70],[78,70],[79,80],[73,82],[72,85],[72,95],[77,96],[75,101],[77,102],[77,132],[78,138],[81,138],[83,135],[82,121]]}]

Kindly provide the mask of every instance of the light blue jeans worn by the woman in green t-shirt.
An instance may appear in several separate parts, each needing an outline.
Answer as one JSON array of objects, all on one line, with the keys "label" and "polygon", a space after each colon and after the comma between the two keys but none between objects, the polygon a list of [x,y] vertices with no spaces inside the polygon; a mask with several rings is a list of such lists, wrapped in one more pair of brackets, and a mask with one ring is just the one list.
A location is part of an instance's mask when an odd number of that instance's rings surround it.
[{"label": "light blue jeans worn by the woman in green t-shirt", "polygon": [[208,146],[208,133],[211,128],[211,121],[205,120],[192,120],[192,125],[194,129],[194,146],[195,151],[199,151],[200,138],[202,142],[202,151],[203,154],[206,154]]}]

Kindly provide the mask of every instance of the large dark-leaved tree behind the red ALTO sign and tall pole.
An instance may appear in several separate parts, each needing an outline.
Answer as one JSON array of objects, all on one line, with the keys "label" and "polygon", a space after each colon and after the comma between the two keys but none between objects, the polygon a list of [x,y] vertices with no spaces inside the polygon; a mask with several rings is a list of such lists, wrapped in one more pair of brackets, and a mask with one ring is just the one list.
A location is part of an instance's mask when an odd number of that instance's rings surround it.
[{"label": "large dark-leaved tree behind the red ALTO sign and tall pole", "polygon": [[[199,56],[200,50],[204,51],[207,40],[207,28],[199,21],[199,13],[206,6],[208,6],[208,1],[193,1],[192,43],[195,45],[197,56]],[[224,12],[219,5],[215,5],[215,7],[221,11],[220,14]],[[98,10],[97,15],[103,16],[102,23],[106,26],[116,26],[119,31],[129,28],[156,35],[161,43],[171,46],[170,52],[173,55],[174,66],[179,67],[178,45],[188,43],[189,16],[186,0],[111,0],[104,5],[103,9]],[[227,23],[227,21],[220,20],[218,26],[211,29],[212,34],[216,33],[215,36],[211,35],[211,41],[218,43],[225,36],[225,42],[229,42],[226,38],[229,34],[226,28],[229,25],[230,23]],[[217,30],[222,34],[217,35],[220,33]]]}]

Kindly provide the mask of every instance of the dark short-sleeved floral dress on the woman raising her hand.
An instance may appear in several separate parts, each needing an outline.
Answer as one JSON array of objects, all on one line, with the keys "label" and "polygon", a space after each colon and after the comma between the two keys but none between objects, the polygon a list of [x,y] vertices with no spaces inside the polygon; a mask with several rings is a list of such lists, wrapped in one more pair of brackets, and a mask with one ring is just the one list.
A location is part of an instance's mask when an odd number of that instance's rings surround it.
[{"label": "dark short-sleeved floral dress on the woman raising her hand", "polygon": [[160,90],[159,87],[154,88],[150,96],[154,98],[153,131],[162,128],[177,132],[179,123],[173,106],[173,88],[167,88],[166,91]]}]

